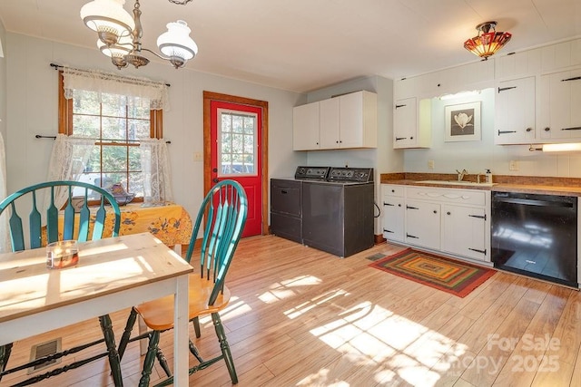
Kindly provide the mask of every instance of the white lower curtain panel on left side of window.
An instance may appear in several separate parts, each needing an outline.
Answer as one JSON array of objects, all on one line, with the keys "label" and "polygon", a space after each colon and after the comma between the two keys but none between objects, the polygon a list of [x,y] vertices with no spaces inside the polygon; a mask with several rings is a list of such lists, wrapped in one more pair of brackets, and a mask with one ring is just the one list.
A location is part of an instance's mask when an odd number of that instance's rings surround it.
[{"label": "white lower curtain panel on left side of window", "polygon": [[[93,149],[92,139],[57,134],[46,180],[78,180]],[[63,207],[67,195],[66,189],[57,189],[54,192],[54,206]],[[44,208],[48,208],[49,205],[49,198],[44,198]]]}]

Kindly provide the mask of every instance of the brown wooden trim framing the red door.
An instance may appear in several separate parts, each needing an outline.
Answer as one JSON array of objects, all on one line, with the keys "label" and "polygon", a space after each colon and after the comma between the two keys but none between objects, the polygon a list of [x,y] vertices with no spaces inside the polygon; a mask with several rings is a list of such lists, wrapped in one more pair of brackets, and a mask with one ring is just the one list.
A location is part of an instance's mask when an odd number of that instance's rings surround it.
[{"label": "brown wooden trim framing the red door", "polygon": [[256,106],[262,109],[262,140],[259,144],[261,148],[262,170],[261,170],[261,185],[262,185],[262,235],[269,233],[268,224],[268,198],[269,198],[269,164],[268,164],[268,143],[269,143],[269,102],[252,100],[251,98],[237,97],[235,95],[221,94],[219,92],[203,92],[203,194],[208,193],[212,187],[210,179],[210,169],[212,168],[210,162],[210,153],[212,147],[210,145],[211,132],[211,106],[212,101],[231,102],[241,105]]}]

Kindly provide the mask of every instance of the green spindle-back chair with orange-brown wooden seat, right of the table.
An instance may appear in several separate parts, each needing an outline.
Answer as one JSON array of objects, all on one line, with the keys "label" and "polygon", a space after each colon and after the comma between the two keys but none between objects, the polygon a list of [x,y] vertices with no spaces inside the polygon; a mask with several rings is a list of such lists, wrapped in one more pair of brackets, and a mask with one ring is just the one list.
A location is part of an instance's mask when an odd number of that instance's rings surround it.
[{"label": "green spindle-back chair with orange-brown wooden seat, right of the table", "polygon": [[[196,244],[198,232],[201,230],[203,219],[200,274],[190,275],[189,280],[189,320],[192,321],[195,327],[198,324],[199,316],[211,314],[222,353],[212,359],[204,360],[192,340],[189,340],[190,352],[199,362],[190,368],[190,374],[203,370],[223,359],[234,384],[238,382],[238,376],[234,368],[230,345],[226,340],[226,334],[222,326],[220,311],[230,301],[231,293],[228,287],[224,285],[224,280],[234,251],[238,246],[238,241],[241,238],[247,212],[246,194],[240,184],[232,180],[222,180],[216,184],[202,201],[202,206],[193,227],[190,247],[185,256],[188,262],[192,262],[194,245]],[[131,337],[133,325],[138,314],[143,317],[143,322],[151,331]],[[155,358],[158,359],[162,369],[168,376],[167,379],[156,385],[163,386],[173,382],[172,372],[159,348],[160,334],[172,328],[172,296],[133,307],[119,343],[119,356],[123,357],[127,343],[149,338],[147,353],[143,361],[142,377],[139,382],[140,386],[149,385]],[[199,333],[196,333],[196,335],[199,336]]]}]

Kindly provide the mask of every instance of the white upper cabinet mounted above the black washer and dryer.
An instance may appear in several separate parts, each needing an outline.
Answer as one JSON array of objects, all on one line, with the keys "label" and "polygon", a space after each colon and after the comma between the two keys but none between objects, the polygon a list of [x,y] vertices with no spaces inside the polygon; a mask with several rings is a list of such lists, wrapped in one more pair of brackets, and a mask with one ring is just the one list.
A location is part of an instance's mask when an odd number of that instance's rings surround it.
[{"label": "white upper cabinet mounted above the black washer and dryer", "polygon": [[292,127],[294,150],[377,148],[377,94],[351,92],[297,106]]}]

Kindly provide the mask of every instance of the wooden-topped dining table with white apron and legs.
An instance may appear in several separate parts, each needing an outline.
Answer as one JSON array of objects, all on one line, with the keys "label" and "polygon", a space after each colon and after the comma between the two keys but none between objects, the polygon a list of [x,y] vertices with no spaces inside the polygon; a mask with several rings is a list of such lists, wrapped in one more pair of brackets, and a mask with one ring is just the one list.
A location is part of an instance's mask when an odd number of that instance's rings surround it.
[{"label": "wooden-topped dining table with white apron and legs", "polygon": [[0,254],[0,345],[175,295],[174,383],[187,386],[192,266],[148,232],[78,246],[78,264],[56,270],[44,247]]}]

